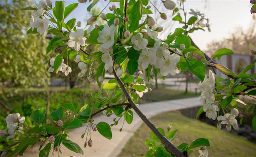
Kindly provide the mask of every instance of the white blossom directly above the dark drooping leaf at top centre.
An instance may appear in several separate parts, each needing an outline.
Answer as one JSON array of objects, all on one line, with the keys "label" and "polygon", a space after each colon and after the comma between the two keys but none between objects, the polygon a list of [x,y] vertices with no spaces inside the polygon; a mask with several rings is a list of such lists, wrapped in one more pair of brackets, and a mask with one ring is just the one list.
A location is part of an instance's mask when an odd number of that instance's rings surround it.
[{"label": "white blossom directly above the dark drooping leaf at top centre", "polygon": [[134,49],[137,51],[145,49],[148,44],[148,40],[144,39],[141,33],[137,33],[135,36],[133,36],[131,41],[134,45]]}]

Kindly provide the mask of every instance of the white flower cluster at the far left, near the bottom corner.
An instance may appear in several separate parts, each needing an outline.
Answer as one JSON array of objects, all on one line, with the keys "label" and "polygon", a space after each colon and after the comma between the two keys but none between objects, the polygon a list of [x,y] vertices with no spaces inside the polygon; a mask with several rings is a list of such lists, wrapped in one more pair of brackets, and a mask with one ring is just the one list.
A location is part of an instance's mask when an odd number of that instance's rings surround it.
[{"label": "white flower cluster at the far left, near the bottom corner", "polygon": [[6,123],[9,133],[7,139],[13,138],[16,134],[16,131],[18,131],[19,133],[22,131],[24,121],[25,117],[20,117],[20,113],[9,114],[6,117]]}]

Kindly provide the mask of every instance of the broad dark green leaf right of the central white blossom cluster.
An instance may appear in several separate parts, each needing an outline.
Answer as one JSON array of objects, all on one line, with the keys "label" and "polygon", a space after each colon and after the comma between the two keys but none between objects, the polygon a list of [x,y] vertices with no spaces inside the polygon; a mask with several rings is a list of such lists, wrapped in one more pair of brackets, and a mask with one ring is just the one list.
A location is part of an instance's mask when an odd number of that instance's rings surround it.
[{"label": "broad dark green leaf right of the central white blossom cluster", "polygon": [[187,59],[187,70],[196,75],[200,80],[204,80],[205,67],[204,64],[197,59]]}]

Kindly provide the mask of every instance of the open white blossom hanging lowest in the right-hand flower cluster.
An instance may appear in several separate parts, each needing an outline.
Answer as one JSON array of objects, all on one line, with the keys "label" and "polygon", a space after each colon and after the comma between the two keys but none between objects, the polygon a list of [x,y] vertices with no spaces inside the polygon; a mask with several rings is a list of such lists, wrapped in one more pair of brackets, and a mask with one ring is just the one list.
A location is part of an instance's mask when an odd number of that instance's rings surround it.
[{"label": "open white blossom hanging lowest in the right-hand flower cluster", "polygon": [[231,126],[233,126],[235,130],[238,130],[238,124],[235,118],[236,117],[231,115],[230,113],[226,113],[224,116],[223,115],[218,116],[217,120],[222,121],[221,124],[226,124],[226,129],[228,131],[231,130]]}]

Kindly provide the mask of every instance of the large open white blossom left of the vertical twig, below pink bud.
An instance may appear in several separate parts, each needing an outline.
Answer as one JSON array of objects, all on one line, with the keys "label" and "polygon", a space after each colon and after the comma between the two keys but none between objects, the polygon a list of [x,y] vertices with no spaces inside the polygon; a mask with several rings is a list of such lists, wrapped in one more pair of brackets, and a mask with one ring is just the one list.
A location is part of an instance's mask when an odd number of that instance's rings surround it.
[{"label": "large open white blossom left of the vertical twig, below pink bud", "polygon": [[115,25],[104,25],[102,31],[99,31],[99,37],[97,38],[98,42],[103,43],[102,47],[108,49],[114,45],[115,39]]}]

